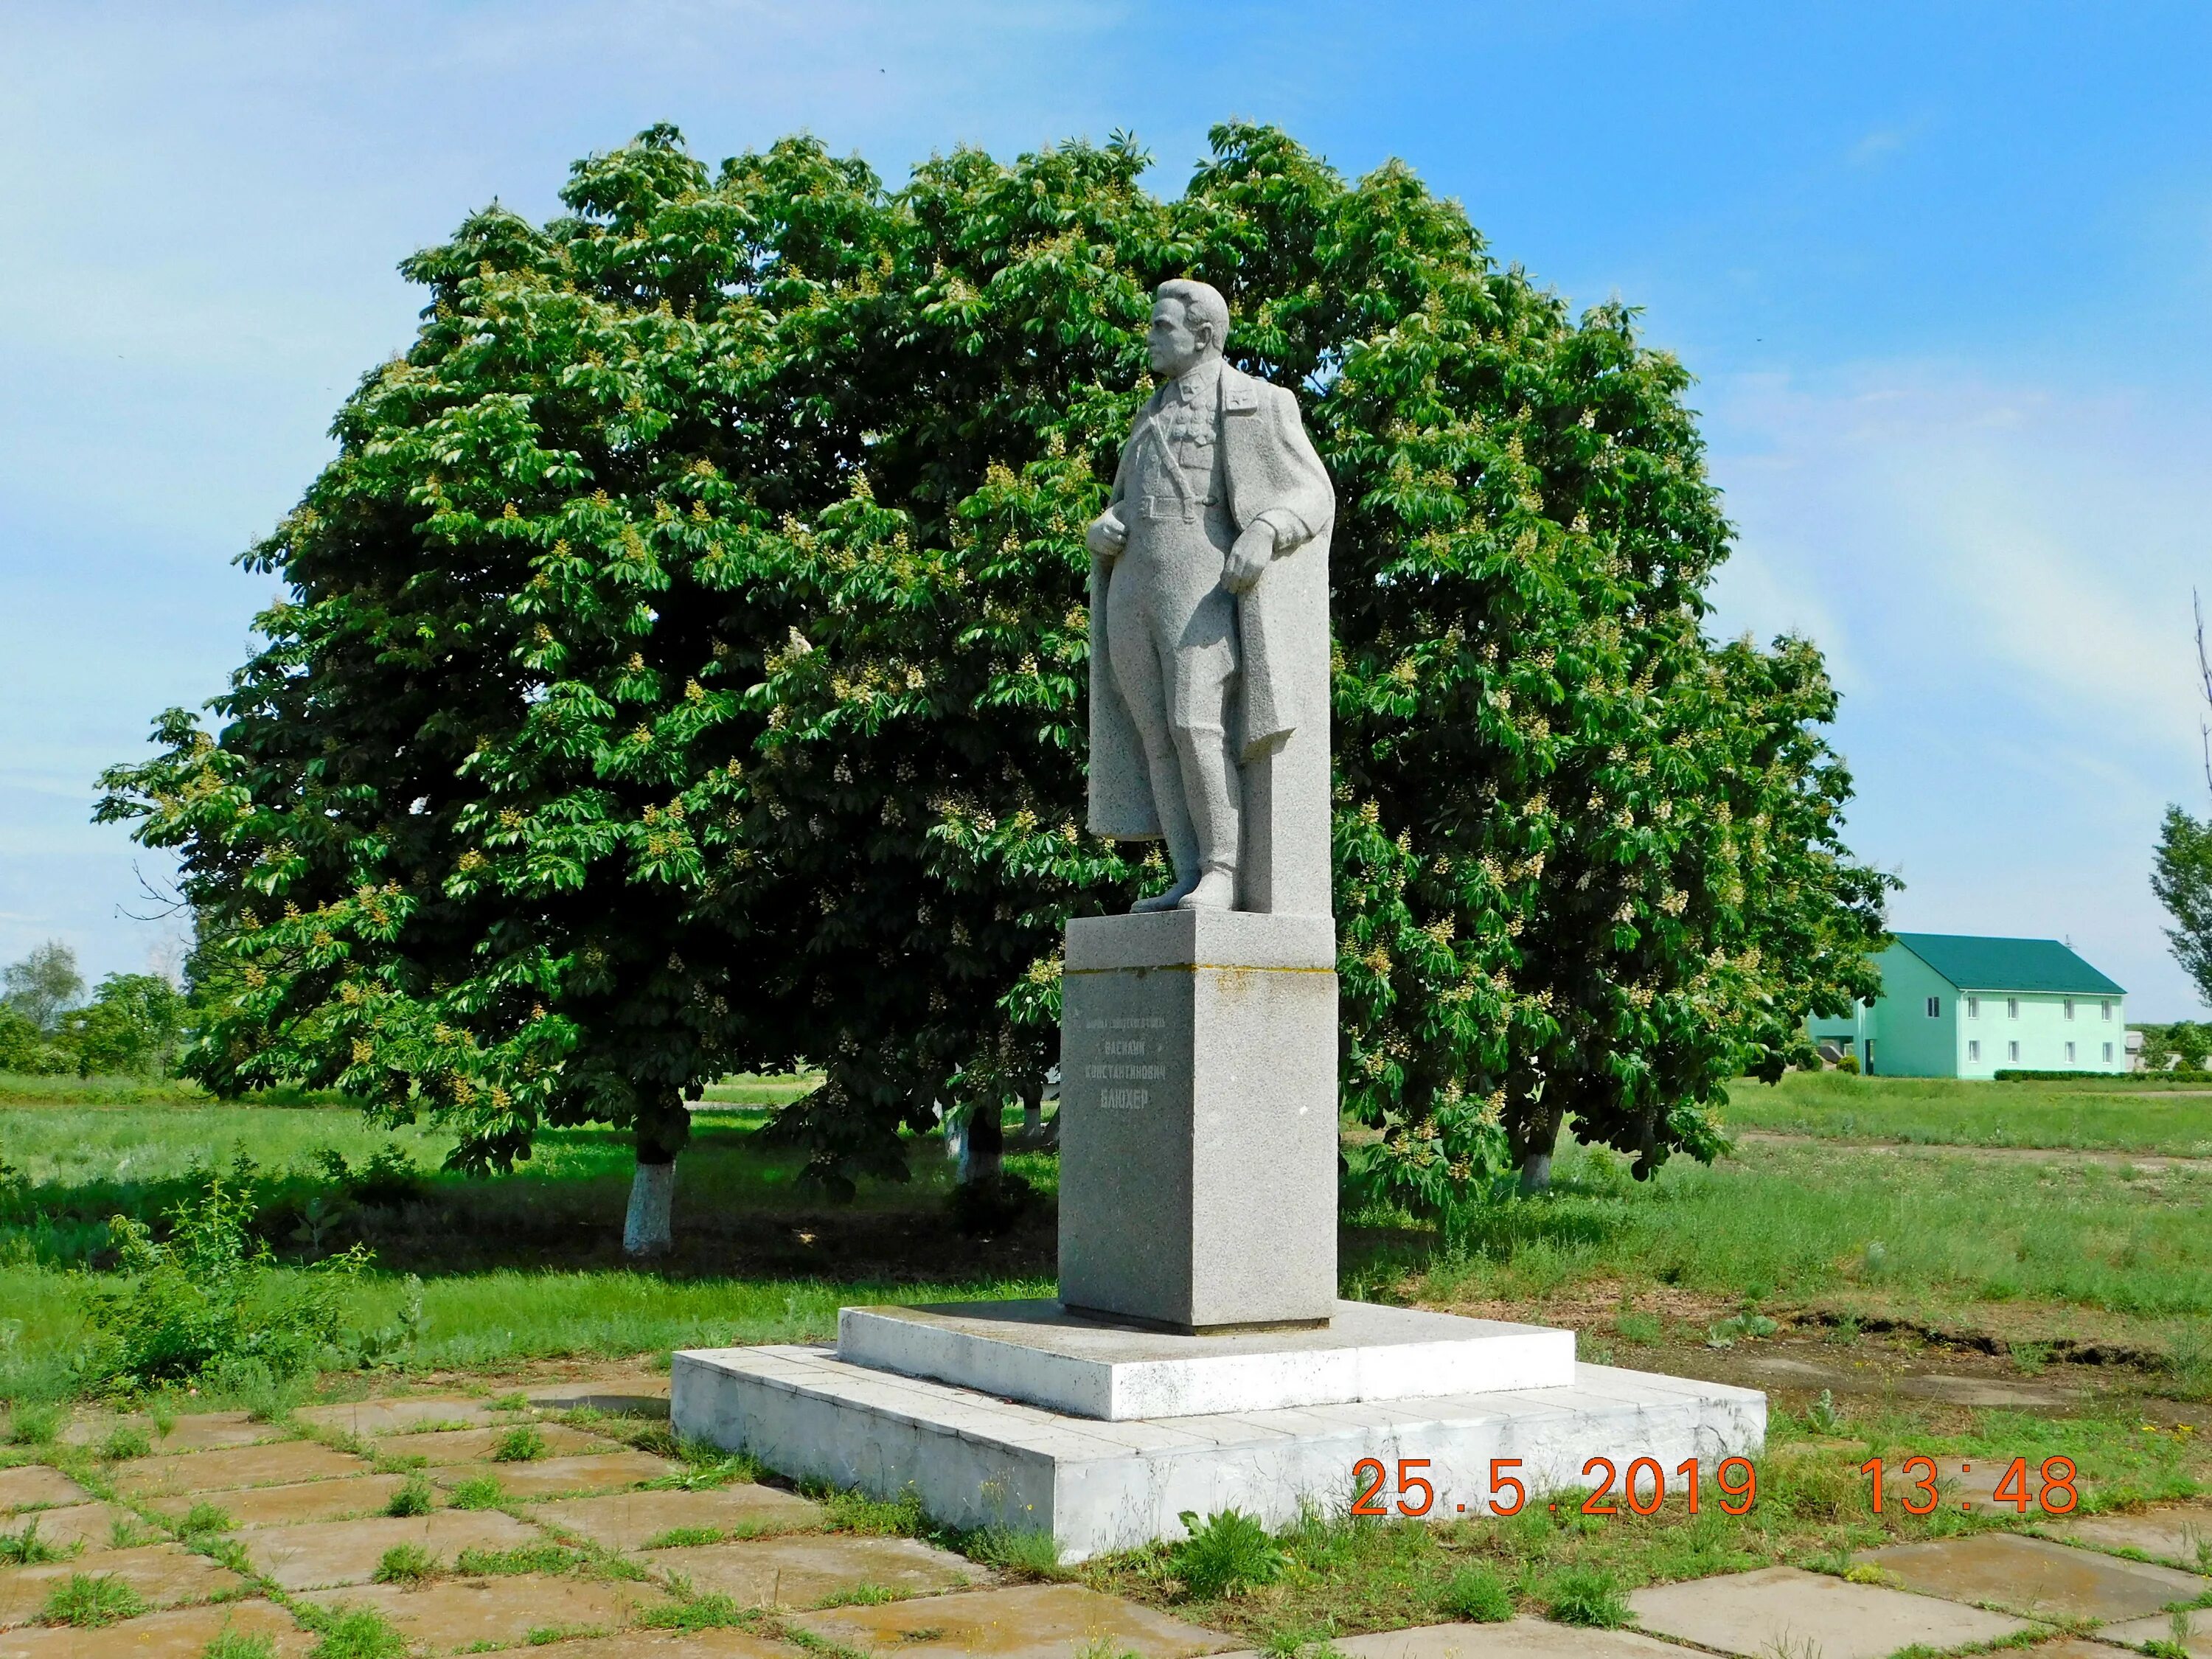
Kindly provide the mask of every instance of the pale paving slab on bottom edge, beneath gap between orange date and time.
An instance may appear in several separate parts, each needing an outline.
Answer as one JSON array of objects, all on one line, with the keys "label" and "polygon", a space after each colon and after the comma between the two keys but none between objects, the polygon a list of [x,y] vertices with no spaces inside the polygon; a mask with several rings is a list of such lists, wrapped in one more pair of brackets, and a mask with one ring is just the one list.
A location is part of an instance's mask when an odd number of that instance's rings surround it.
[{"label": "pale paving slab on bottom edge, beneath gap between orange date and time", "polygon": [[1885,1659],[1911,1644],[1962,1648],[2031,1628],[2002,1613],[1845,1584],[1794,1566],[1659,1584],[1630,1595],[1628,1606],[1646,1630],[1761,1659],[1805,1650],[1820,1659]]}]

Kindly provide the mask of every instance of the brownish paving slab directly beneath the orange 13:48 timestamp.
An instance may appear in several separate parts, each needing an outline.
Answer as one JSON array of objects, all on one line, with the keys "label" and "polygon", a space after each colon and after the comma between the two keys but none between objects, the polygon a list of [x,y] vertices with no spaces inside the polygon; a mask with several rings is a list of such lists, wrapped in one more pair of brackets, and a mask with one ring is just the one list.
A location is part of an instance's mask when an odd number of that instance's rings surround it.
[{"label": "brownish paving slab directly beneath the orange 13:48 timestamp", "polygon": [[2044,1619],[2139,1619],[2168,1601],[2194,1601],[2212,1590],[2212,1579],[2194,1573],[2017,1533],[1891,1544],[1858,1559],[1896,1573],[1907,1590],[1920,1595],[1989,1601]]}]

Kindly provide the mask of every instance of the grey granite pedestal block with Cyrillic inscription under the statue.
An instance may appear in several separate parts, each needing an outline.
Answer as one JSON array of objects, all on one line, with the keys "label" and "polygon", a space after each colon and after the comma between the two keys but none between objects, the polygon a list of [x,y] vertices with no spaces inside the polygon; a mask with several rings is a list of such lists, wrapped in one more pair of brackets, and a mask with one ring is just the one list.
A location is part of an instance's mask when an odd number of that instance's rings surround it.
[{"label": "grey granite pedestal block with Cyrillic inscription under the statue", "polygon": [[1329,1318],[1329,918],[1159,911],[1068,925],[1060,1296],[1170,1329]]}]

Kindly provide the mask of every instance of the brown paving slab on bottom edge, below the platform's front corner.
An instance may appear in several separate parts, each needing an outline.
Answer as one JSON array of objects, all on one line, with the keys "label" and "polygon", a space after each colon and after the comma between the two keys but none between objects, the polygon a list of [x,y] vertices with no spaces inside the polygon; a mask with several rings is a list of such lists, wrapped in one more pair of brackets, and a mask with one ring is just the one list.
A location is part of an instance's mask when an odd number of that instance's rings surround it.
[{"label": "brown paving slab on bottom edge, below the platform's front corner", "polygon": [[[1022,1584],[1009,1590],[931,1595],[916,1601],[827,1608],[792,1617],[801,1630],[863,1652],[951,1659],[1073,1659],[1106,1648],[1117,1659],[1190,1659],[1232,1646],[1217,1630],[1170,1619],[1079,1584]],[[1338,1644],[1343,1646],[1343,1644]]]}]

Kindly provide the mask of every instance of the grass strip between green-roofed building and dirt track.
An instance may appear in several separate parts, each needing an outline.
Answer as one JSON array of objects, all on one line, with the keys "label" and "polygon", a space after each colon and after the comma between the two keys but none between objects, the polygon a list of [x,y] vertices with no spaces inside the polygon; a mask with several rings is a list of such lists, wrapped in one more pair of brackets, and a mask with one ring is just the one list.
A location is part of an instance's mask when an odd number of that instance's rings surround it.
[{"label": "grass strip between green-roofed building and dirt track", "polygon": [[2163,1079],[1984,1084],[1794,1071],[1776,1086],[1730,1084],[1725,1119],[1732,1128],[1845,1141],[2212,1157],[2212,1075],[2192,1091]]}]

